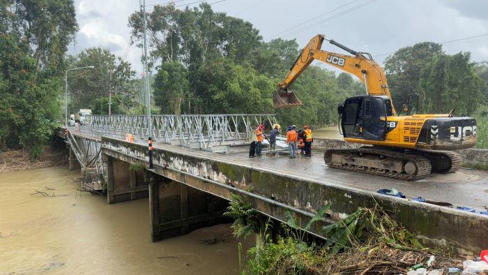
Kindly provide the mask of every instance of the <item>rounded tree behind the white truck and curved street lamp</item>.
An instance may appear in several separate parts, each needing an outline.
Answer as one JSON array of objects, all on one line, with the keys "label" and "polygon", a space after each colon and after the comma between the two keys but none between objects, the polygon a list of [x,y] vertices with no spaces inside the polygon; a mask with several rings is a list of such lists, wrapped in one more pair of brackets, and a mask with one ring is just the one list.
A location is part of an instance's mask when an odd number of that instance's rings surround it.
[{"label": "rounded tree behind the white truck and curved street lamp", "polygon": [[[139,91],[130,84],[135,71],[127,61],[100,47],[86,49],[70,60],[71,68],[85,66],[94,66],[94,68],[73,70],[68,73],[69,110],[75,112],[86,107],[97,110],[100,108],[100,98],[108,98],[110,91],[112,91],[112,104],[118,101],[125,110],[135,105],[135,94]],[[117,114],[121,109],[113,111],[113,114]],[[103,113],[108,112],[106,110]]]}]

